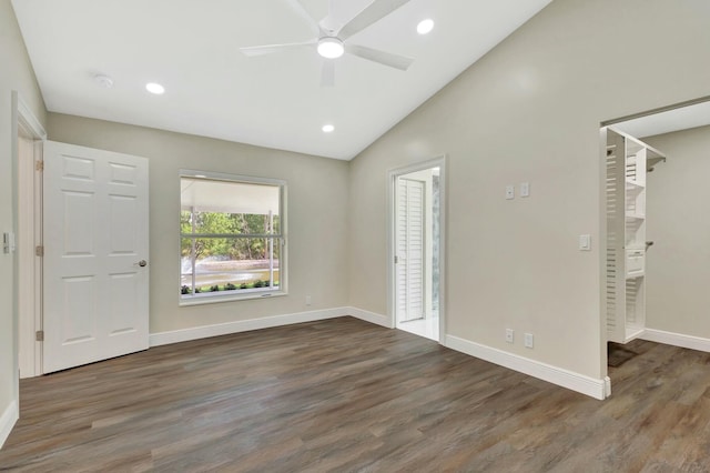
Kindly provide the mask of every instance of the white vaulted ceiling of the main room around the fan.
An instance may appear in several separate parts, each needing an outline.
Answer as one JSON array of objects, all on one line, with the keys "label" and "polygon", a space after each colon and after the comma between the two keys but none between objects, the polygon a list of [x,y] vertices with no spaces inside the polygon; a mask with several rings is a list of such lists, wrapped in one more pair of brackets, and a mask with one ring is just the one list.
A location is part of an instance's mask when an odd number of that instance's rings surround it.
[{"label": "white vaulted ceiling of the main room around the fan", "polygon": [[[372,0],[332,0],[341,23]],[[377,0],[389,1],[389,0]],[[47,108],[348,160],[551,0],[410,0],[348,43],[415,58],[403,72],[349,54],[321,88],[315,50],[247,58],[241,47],[306,41],[288,0],[12,0]],[[316,19],[328,0],[302,0]],[[416,32],[432,18],[434,31]],[[93,77],[110,76],[111,89]],[[152,95],[146,82],[166,92]],[[329,134],[325,123],[335,125]]]}]

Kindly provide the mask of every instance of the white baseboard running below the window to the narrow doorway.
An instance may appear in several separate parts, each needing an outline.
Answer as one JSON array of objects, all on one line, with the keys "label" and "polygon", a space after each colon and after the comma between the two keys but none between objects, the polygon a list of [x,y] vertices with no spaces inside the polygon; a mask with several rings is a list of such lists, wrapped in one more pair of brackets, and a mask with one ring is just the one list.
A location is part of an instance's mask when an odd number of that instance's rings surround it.
[{"label": "white baseboard running below the window to the narrow doorway", "polygon": [[150,346],[168,345],[170,343],[187,342],[190,340],[206,339],[210,336],[229,335],[231,333],[246,332],[250,330],[270,329],[273,326],[291,325],[294,323],[315,322],[318,320],[335,319],[352,315],[365,322],[389,326],[389,320],[385,315],[363,311],[355,308],[335,308],[321,311],[298,312],[265,316],[261,319],[237,320],[234,322],[217,323],[214,325],[193,326],[190,329],[172,330],[150,334]]}]

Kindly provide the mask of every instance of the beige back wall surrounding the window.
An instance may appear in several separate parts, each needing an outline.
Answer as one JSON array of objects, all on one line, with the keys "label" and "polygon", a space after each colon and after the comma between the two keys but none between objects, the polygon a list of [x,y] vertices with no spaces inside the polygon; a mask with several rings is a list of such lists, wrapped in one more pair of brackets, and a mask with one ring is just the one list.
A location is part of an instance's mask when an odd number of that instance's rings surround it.
[{"label": "beige back wall surrounding the window", "polygon": [[[347,305],[347,162],[57,113],[48,133],[149,159],[151,333]],[[179,306],[181,168],[287,181],[287,296]]]}]

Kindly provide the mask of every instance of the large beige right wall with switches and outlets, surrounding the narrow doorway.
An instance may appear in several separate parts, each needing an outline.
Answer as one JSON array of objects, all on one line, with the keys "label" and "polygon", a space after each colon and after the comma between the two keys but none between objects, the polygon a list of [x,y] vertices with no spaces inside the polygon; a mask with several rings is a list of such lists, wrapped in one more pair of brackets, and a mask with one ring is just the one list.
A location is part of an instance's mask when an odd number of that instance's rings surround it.
[{"label": "large beige right wall with switches and outlets, surrounding the narrow doorway", "polygon": [[550,3],[352,162],[351,304],[387,311],[387,170],[446,154],[447,334],[604,376],[599,123],[709,94],[708,24],[704,0]]}]

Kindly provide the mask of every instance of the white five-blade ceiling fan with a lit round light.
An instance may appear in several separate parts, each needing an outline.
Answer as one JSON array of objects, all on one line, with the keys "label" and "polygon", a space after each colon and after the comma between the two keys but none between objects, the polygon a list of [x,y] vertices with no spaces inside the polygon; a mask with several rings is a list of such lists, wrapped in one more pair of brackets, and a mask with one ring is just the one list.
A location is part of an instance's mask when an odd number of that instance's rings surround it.
[{"label": "white five-blade ceiling fan with a lit round light", "polygon": [[397,10],[409,0],[374,0],[365,7],[359,13],[347,21],[343,26],[338,26],[333,18],[333,0],[329,1],[328,16],[320,22],[316,21],[306,11],[300,0],[285,0],[298,14],[312,27],[317,34],[316,38],[304,41],[285,44],[266,44],[240,48],[245,56],[261,56],[272,52],[284,51],[288,49],[312,48],[318,54],[325,58],[323,62],[323,72],[321,76],[322,87],[332,87],[335,83],[335,62],[344,53],[357,56],[368,61],[377,62],[383,66],[406,71],[414,62],[413,58],[385,52],[378,49],[368,48],[359,44],[351,44],[347,40],[355,33],[364,30],[371,24],[383,19],[387,14]]}]

